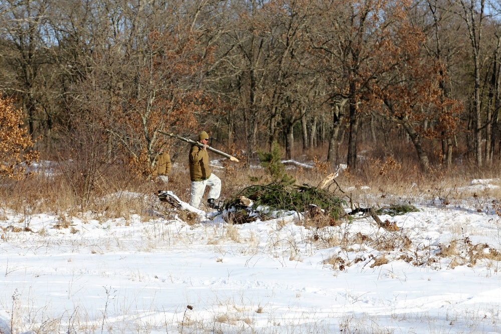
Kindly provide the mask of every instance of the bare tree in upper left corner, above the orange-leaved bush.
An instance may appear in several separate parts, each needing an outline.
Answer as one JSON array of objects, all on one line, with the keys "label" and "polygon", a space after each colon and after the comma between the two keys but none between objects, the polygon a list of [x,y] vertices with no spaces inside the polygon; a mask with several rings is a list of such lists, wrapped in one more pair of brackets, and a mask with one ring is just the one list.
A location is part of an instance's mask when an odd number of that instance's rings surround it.
[{"label": "bare tree in upper left corner, above the orange-leaved bush", "polygon": [[0,89],[26,112],[28,131],[34,138],[45,134],[44,127],[52,128],[53,34],[47,24],[49,7],[50,0],[0,2]]}]

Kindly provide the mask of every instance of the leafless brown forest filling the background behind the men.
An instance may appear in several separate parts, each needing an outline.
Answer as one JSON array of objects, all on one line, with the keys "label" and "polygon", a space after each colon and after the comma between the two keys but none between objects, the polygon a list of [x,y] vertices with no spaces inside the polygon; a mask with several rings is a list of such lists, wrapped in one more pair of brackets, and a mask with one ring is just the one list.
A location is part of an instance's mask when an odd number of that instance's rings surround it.
[{"label": "leafless brown forest filling the background behind the men", "polygon": [[246,164],[276,141],[355,172],[361,153],[489,168],[500,18],[485,0],[0,0],[0,91],[84,184],[148,175],[177,154],[158,131],[201,129]]}]

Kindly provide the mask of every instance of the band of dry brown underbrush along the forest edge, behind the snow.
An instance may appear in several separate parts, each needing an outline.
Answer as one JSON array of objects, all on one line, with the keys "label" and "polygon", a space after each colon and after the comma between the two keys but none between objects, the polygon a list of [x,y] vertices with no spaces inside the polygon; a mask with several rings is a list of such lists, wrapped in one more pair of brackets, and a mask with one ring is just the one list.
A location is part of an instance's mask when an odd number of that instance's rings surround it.
[{"label": "band of dry brown underbrush along the forest edge, behind the snow", "polygon": [[[296,185],[318,187],[339,166],[329,166],[317,157],[307,160],[303,156],[299,164],[288,164],[285,173]],[[306,167],[308,166],[308,167]],[[223,161],[213,172],[221,179],[223,201],[242,189],[267,185],[274,180],[266,168]],[[435,205],[450,205],[454,201],[469,200],[478,208],[492,204],[493,198],[501,197],[498,175],[501,167],[491,166],[482,170],[456,167],[420,171],[415,165],[397,162],[391,157],[366,159],[359,169],[339,169],[337,176],[325,185],[325,190],[345,200],[348,205],[380,207],[401,203],[427,202]],[[477,184],[476,190],[467,187]],[[21,214],[55,213],[73,215],[78,212],[96,212],[108,217],[141,214],[147,219],[151,201],[158,190],[170,190],[182,201],[189,201],[190,182],[187,166],[176,162],[169,183],[137,177],[126,168],[113,173],[96,176],[91,190],[84,191],[83,175],[65,175],[52,168],[50,173],[38,170],[20,181],[3,180],[0,188],[2,209]]]}]

